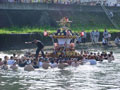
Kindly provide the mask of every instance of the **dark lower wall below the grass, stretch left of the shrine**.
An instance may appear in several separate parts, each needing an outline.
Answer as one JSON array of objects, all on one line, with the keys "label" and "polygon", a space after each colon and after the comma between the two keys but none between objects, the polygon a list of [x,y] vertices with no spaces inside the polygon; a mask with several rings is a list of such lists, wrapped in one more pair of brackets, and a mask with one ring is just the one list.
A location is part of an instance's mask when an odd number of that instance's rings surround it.
[{"label": "dark lower wall below the grass, stretch left of the shrine", "polygon": [[42,34],[2,34],[0,35],[0,51],[35,47],[33,44],[25,44],[34,39],[41,40],[45,45],[52,45],[51,38],[44,37]]}]

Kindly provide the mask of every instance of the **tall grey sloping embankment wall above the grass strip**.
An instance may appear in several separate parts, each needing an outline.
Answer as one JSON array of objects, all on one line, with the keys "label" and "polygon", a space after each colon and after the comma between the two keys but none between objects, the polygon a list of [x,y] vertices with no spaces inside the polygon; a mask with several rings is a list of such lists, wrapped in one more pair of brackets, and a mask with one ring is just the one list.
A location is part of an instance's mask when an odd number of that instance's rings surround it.
[{"label": "tall grey sloping embankment wall above the grass strip", "polygon": [[[120,25],[120,8],[107,7],[114,13],[115,22]],[[100,6],[1,3],[0,27],[11,26],[52,26],[67,16],[73,21],[72,27],[99,26],[113,27]]]}]

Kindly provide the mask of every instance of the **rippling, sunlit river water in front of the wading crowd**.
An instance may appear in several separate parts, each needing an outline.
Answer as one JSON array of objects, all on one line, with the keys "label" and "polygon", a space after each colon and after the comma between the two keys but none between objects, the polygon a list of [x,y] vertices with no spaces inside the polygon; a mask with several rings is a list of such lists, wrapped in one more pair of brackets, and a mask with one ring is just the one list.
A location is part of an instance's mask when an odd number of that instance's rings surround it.
[{"label": "rippling, sunlit river water in front of the wading crowd", "polygon": [[115,55],[112,63],[104,61],[93,66],[81,65],[64,70],[0,70],[0,90],[120,90],[120,49],[110,50]]}]

